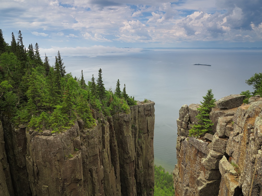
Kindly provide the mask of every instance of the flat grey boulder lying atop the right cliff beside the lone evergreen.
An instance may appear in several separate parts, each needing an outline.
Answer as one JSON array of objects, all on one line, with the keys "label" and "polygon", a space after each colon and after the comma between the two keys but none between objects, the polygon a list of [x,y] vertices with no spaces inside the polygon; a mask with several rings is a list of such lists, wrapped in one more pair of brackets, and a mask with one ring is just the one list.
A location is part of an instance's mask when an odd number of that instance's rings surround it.
[{"label": "flat grey boulder lying atop the right cliff beside the lone evergreen", "polygon": [[218,108],[236,108],[242,105],[245,96],[240,94],[223,97],[217,101]]}]

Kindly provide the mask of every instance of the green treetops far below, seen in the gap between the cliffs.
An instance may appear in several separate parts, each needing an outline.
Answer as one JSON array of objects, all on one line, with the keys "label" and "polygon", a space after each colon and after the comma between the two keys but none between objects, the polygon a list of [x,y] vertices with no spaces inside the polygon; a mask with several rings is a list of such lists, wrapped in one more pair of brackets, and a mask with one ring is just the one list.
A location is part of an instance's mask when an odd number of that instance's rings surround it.
[{"label": "green treetops far below, seen in the gap between the cliffs", "polygon": [[155,165],[155,187],[154,196],[174,196],[174,181],[172,175],[165,169]]}]

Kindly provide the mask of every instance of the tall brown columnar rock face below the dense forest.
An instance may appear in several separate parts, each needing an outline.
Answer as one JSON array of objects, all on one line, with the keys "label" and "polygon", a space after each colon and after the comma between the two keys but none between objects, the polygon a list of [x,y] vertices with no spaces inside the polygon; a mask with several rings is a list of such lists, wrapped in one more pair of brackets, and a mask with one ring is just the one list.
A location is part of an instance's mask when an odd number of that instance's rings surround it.
[{"label": "tall brown columnar rock face below the dense forest", "polygon": [[0,195],[154,195],[154,105],[107,118],[93,112],[94,128],[80,120],[60,133],[14,127],[2,114]]}]

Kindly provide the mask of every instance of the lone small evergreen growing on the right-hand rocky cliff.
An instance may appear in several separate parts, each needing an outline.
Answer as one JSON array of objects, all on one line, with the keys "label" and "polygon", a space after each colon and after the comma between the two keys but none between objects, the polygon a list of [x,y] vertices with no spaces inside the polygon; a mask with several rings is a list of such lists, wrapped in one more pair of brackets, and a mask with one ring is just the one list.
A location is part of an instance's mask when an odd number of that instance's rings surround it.
[{"label": "lone small evergreen growing on the right-hand rocky cliff", "polygon": [[202,105],[199,106],[199,114],[196,118],[199,120],[198,124],[193,125],[192,129],[189,130],[189,136],[200,137],[205,133],[212,133],[211,126],[214,125],[209,119],[209,113],[212,107],[215,107],[214,94],[212,90],[209,89],[206,93],[206,96],[203,97],[203,102],[200,102]]}]

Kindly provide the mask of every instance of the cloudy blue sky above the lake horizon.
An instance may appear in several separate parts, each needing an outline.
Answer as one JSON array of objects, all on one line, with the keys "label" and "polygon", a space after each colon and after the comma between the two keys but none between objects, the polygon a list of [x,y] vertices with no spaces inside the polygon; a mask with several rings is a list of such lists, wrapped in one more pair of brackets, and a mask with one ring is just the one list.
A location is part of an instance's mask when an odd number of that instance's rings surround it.
[{"label": "cloudy blue sky above the lake horizon", "polygon": [[261,0],[0,0],[10,43],[41,54],[99,55],[147,47],[262,47]]}]

